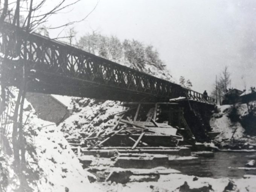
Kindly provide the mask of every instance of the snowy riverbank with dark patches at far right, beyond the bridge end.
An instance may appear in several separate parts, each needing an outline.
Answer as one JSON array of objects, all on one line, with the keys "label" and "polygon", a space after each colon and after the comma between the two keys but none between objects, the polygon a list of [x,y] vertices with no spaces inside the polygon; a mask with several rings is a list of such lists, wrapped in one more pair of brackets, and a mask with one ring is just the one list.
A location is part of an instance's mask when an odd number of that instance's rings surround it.
[{"label": "snowy riverbank with dark patches at far right, beyond the bridge end", "polygon": [[[251,106],[253,105],[252,103]],[[247,122],[247,119],[245,119],[249,115],[247,105],[218,105],[217,107],[218,113],[214,113],[210,120],[213,131],[220,132],[215,142],[220,146],[226,145],[226,147],[232,147],[234,149],[252,149],[256,137],[248,134],[248,124],[250,122]],[[253,109],[252,113],[255,113],[255,111],[256,108]]]}]

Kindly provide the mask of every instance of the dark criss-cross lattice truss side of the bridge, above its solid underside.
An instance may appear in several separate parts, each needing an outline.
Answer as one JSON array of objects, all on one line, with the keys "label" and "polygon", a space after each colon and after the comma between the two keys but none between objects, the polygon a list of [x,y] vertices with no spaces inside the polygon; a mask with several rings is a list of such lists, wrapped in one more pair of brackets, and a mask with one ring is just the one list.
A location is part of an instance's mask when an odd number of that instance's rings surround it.
[{"label": "dark criss-cross lattice truss side of the bridge, above its solid underside", "polygon": [[19,27],[0,27],[0,52],[26,59],[28,69],[143,92],[161,98],[184,96],[180,85],[90,54]]}]

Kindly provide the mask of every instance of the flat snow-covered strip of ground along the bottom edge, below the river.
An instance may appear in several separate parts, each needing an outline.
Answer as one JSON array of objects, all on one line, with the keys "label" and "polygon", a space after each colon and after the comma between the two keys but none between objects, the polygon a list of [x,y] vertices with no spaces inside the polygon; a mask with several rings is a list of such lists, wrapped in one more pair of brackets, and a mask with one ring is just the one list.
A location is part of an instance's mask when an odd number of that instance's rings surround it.
[{"label": "flat snow-covered strip of ground along the bottom edge, below the river", "polygon": [[126,184],[104,182],[100,184],[100,187],[105,191],[117,192],[255,192],[255,179],[255,175],[245,175],[244,178],[231,180],[229,178],[169,174],[160,175],[158,181],[130,182]]}]

